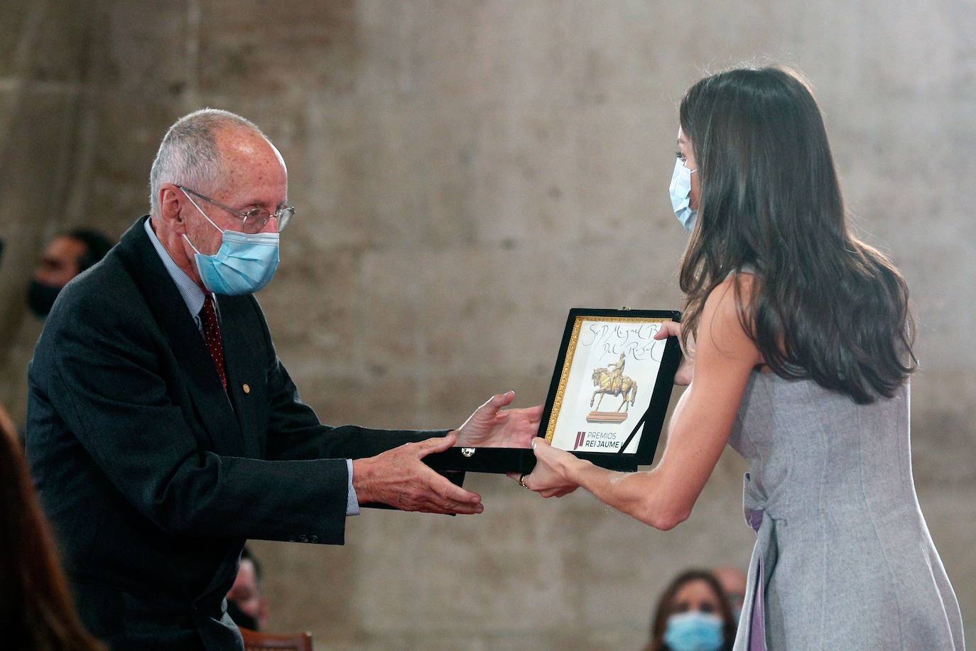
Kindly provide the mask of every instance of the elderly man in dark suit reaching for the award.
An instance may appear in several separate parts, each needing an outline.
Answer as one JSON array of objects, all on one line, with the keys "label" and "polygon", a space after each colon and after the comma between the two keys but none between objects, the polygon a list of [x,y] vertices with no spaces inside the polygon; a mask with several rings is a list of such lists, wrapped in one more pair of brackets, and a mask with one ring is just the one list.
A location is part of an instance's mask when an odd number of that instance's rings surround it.
[{"label": "elderly man in dark suit reaching for the award", "polygon": [[61,292],[29,371],[27,452],[82,619],[113,649],[242,649],[225,614],[248,538],[342,545],[363,504],[479,513],[422,458],[527,446],[492,397],[456,431],[321,425],[252,294],[294,209],[277,149],[206,109],[150,174],[151,213]]}]

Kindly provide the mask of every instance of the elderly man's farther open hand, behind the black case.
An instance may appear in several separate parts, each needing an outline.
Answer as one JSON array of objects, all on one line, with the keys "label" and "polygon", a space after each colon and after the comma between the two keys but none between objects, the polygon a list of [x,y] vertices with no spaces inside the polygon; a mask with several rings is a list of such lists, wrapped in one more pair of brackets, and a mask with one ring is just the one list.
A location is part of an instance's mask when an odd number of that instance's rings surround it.
[{"label": "elderly man's farther open hand, behind the black case", "polygon": [[483,448],[527,448],[539,433],[543,407],[506,409],[515,399],[514,391],[493,395],[474,410],[458,429],[458,445]]}]

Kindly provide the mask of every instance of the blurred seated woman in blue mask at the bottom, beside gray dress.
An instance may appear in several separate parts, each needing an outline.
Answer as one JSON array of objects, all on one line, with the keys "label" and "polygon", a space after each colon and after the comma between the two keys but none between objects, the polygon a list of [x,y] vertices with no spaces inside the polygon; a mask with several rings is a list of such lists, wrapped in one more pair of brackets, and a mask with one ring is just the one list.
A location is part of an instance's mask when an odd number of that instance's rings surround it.
[{"label": "blurred seated woman in blue mask at the bottom, beside gray dress", "polygon": [[712,572],[687,570],[661,594],[645,651],[724,651],[732,648],[737,627]]}]

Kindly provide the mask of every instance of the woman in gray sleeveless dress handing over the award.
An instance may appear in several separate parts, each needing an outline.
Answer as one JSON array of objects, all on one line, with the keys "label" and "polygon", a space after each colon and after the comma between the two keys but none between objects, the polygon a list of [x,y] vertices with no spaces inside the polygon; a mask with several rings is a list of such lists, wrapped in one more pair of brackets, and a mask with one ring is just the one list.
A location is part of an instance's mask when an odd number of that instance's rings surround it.
[{"label": "woman in gray sleeveless dress handing over the award", "polygon": [[596,468],[536,439],[526,485],[583,486],[660,529],[688,517],[726,443],[756,531],[737,649],[961,649],[956,595],[918,507],[908,288],[846,223],[807,84],[776,67],[681,101],[671,202],[691,237],[690,382],[656,468]]}]

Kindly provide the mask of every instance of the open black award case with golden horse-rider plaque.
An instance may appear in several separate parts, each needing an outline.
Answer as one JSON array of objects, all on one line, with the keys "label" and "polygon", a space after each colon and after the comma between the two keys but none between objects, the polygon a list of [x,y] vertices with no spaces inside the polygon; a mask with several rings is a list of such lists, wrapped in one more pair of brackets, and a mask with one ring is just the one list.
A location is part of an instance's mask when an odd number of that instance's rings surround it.
[{"label": "open black award case with golden horse-rider plaque", "polygon": [[[675,338],[654,339],[671,310],[569,311],[539,435],[593,464],[636,470],[654,460],[681,361]],[[529,472],[531,449],[454,447],[429,455],[439,470]]]}]

